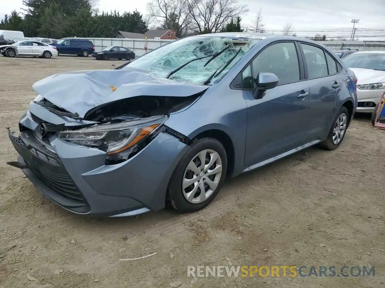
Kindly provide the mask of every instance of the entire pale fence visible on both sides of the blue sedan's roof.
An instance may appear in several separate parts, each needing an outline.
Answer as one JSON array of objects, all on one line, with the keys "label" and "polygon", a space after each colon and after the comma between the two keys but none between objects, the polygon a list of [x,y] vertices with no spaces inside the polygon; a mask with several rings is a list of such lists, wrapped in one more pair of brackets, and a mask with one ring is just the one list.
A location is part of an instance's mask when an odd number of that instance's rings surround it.
[{"label": "entire pale fence visible on both sides of the blue sedan's roof", "polygon": [[[122,46],[134,51],[136,56],[141,56],[155,48],[174,40],[131,39],[131,38],[82,38],[94,43],[95,50],[101,50],[107,46]],[[329,48],[349,48],[358,51],[385,51],[385,41],[320,41]],[[147,47],[147,50],[146,50]]]}]

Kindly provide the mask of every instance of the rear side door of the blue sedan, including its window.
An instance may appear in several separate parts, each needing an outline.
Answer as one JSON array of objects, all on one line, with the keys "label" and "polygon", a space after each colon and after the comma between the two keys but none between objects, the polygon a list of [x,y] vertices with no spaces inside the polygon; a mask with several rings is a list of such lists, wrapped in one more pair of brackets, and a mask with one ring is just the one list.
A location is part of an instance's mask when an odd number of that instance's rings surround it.
[{"label": "rear side door of the blue sedan, including its window", "polygon": [[335,58],[318,45],[300,43],[305,63],[306,81],[310,86],[308,119],[310,133],[314,139],[323,139],[330,128],[340,99],[343,83],[341,66]]}]

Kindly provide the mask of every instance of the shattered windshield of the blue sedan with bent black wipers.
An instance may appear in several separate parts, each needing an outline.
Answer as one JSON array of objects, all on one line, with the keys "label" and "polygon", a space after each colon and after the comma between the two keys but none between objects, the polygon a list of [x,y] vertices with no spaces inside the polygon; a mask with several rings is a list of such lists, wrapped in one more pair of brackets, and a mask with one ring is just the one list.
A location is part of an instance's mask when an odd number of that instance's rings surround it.
[{"label": "shattered windshield of the blue sedan with bent black wipers", "polygon": [[219,36],[182,38],[137,58],[122,70],[136,69],[191,84],[215,84],[257,41]]}]

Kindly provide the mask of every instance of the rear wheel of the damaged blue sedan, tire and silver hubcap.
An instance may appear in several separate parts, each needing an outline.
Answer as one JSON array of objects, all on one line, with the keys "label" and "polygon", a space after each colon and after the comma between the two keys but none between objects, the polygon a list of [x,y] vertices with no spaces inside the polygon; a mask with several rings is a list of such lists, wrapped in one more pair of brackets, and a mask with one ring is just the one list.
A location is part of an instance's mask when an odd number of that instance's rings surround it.
[{"label": "rear wheel of the damaged blue sedan, tire and silver hubcap", "polygon": [[349,122],[349,112],[345,106],[342,106],[336,117],[333,120],[333,124],[330,127],[328,137],[325,141],[320,143],[320,146],[326,150],[334,150],[340,146],[343,137],[345,137],[346,129]]}]

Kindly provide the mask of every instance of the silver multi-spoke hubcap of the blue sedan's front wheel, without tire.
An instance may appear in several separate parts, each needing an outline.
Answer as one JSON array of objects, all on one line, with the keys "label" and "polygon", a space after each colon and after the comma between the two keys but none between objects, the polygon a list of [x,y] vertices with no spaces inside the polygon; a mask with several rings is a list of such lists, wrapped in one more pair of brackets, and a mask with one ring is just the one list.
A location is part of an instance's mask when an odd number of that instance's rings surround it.
[{"label": "silver multi-spoke hubcap of the blue sedan's front wheel, without tire", "polygon": [[222,176],[222,159],[218,152],[205,149],[187,165],[182,180],[186,200],[193,204],[204,202],[215,191]]}]

